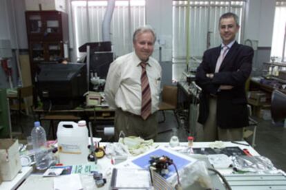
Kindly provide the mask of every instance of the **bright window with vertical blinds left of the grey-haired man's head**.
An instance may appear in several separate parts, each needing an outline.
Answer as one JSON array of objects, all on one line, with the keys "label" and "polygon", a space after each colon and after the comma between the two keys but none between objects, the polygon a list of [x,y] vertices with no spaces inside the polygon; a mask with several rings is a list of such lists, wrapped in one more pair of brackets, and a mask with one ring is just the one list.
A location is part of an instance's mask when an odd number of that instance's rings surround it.
[{"label": "bright window with vertical blinds left of the grey-haired man's head", "polygon": [[[102,21],[107,3],[108,1],[72,1],[77,58],[82,56],[78,52],[78,47],[87,42],[102,41]],[[130,6],[128,1],[115,1],[111,20],[111,43],[115,56],[121,56],[133,50],[133,31],[145,24],[145,18],[145,0],[131,0]]]}]

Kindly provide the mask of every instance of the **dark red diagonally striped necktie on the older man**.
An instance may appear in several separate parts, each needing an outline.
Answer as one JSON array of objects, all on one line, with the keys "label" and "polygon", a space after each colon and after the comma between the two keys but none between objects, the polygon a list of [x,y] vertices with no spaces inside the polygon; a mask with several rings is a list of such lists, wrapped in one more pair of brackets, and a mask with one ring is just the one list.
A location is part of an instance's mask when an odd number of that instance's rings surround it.
[{"label": "dark red diagonally striped necktie on the older man", "polygon": [[141,103],[141,116],[144,120],[151,114],[151,90],[148,82],[148,76],[146,72],[147,63],[140,63],[142,67],[141,74],[141,90],[142,90],[142,103]]}]

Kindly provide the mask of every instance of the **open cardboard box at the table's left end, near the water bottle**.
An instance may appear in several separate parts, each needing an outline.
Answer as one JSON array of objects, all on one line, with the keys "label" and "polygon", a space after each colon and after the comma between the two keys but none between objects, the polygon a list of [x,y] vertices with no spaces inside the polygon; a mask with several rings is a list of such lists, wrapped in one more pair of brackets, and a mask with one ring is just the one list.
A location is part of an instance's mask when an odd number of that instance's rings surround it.
[{"label": "open cardboard box at the table's left end, near the water bottle", "polygon": [[0,139],[0,176],[2,180],[13,180],[21,168],[18,140]]}]

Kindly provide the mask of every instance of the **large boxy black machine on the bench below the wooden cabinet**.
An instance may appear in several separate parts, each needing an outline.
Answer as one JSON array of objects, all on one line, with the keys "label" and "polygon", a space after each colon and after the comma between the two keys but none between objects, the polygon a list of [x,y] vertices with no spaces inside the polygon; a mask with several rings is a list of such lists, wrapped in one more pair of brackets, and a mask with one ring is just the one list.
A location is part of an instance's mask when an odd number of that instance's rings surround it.
[{"label": "large boxy black machine on the bench below the wooden cabinet", "polygon": [[86,64],[39,64],[36,85],[43,109],[74,109],[87,91]]}]

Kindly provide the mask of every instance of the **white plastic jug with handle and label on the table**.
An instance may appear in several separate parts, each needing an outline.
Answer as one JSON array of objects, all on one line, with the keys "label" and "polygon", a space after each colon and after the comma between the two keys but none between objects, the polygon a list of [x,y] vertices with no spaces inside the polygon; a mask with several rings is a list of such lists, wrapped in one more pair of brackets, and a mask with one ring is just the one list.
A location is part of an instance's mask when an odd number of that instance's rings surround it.
[{"label": "white plastic jug with handle and label on the table", "polygon": [[[88,129],[73,121],[61,121],[57,126],[59,162],[64,165],[83,165],[88,162]],[[81,123],[82,124],[82,123]]]}]

